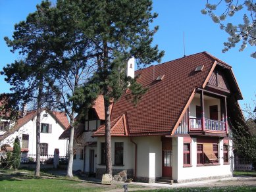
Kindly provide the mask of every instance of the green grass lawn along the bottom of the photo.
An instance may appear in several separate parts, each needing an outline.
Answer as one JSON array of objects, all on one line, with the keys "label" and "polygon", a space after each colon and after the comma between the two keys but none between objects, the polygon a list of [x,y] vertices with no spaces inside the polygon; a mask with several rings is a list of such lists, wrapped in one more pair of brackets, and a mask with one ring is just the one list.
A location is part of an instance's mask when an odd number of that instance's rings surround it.
[{"label": "green grass lawn along the bottom of the photo", "polygon": [[[32,170],[0,170],[0,191],[110,191],[118,189],[122,191],[122,183],[102,185],[90,181],[80,180],[78,177],[70,178],[55,176],[42,170],[41,175],[53,178],[35,178]],[[256,172],[234,172],[236,176],[256,176]],[[256,191],[256,186],[228,186],[228,187],[193,187],[154,189],[128,183],[129,189],[137,191]],[[152,189],[152,188],[151,188]]]}]

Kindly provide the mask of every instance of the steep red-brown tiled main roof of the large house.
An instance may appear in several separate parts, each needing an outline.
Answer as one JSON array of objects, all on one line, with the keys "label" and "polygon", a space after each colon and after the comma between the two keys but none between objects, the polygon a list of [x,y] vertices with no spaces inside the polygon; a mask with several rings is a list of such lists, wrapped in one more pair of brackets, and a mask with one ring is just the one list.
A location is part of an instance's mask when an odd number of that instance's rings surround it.
[{"label": "steep red-brown tiled main roof of the large house", "polygon": [[[136,106],[126,99],[126,94],[122,95],[113,105],[111,126],[116,118],[125,114],[128,135],[171,135],[190,105],[195,90],[205,88],[217,64],[232,73],[228,64],[206,52],[137,70],[137,82],[149,89]],[[204,65],[203,70],[195,72],[201,65]],[[233,81],[237,85],[236,80]],[[242,98],[239,87],[236,91]],[[99,135],[105,135],[103,126],[93,134]]]}]

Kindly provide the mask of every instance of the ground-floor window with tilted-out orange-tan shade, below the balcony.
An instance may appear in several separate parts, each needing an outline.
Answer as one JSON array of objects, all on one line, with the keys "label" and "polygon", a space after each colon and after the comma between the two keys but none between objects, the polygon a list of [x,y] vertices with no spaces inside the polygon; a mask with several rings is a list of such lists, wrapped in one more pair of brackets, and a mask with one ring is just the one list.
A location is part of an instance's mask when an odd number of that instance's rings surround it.
[{"label": "ground-floor window with tilted-out orange-tan shade, below the balcony", "polygon": [[218,163],[218,144],[197,144],[197,164]]}]

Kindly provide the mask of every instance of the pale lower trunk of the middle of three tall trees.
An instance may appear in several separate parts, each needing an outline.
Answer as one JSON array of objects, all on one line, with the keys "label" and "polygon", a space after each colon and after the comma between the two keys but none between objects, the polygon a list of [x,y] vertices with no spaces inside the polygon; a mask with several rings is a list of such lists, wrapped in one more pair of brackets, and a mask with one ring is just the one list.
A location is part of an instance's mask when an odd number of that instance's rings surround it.
[{"label": "pale lower trunk of the middle of three tall trees", "polygon": [[[72,112],[74,117],[74,112]],[[66,176],[69,178],[73,177],[73,149],[74,149],[74,118],[70,120],[70,137],[68,143],[68,169],[66,170]]]}]

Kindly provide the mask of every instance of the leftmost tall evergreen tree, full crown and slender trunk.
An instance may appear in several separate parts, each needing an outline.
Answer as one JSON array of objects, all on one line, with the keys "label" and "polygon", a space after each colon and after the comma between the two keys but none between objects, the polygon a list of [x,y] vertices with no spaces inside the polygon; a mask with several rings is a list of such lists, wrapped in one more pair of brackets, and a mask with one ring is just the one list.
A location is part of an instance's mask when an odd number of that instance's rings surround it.
[{"label": "leftmost tall evergreen tree, full crown and slender trunk", "polygon": [[9,103],[13,107],[28,103],[32,99],[37,101],[36,118],[36,176],[40,171],[40,114],[43,103],[51,101],[51,89],[49,86],[52,77],[51,58],[49,47],[48,20],[51,13],[51,3],[43,1],[37,6],[37,11],[28,15],[26,21],[14,26],[13,39],[5,37],[5,41],[11,51],[18,51],[23,56],[21,60],[15,60],[3,68],[7,76],[5,80],[12,85],[8,94]]}]

